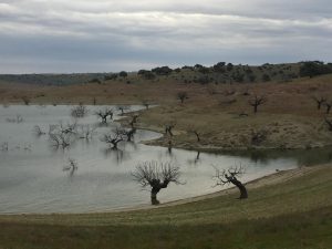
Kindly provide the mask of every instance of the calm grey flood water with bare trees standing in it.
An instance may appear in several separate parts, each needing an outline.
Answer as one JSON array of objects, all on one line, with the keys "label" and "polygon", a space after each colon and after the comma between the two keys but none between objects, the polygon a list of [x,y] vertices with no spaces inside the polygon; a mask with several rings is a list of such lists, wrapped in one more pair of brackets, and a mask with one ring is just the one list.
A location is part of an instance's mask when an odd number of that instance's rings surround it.
[{"label": "calm grey flood water with bare trees standing in it", "polygon": [[[221,189],[212,187],[214,166],[245,165],[241,180],[246,183],[276,169],[326,163],[332,158],[331,149],[228,155],[184,149],[169,153],[167,148],[139,143],[160,136],[148,131],[137,131],[134,142],[121,142],[118,149],[110,149],[101,137],[117,124],[98,125],[94,112],[104,106],[87,108],[87,115],[77,118],[77,124],[94,127],[94,135],[90,139],[71,141],[63,149],[54,147],[48,132],[50,125],[74,123],[70,115],[72,106],[0,106],[1,214],[106,211],[148,205],[148,189],[143,190],[131,175],[137,163],[145,160],[172,160],[180,167],[180,180],[185,184],[170,184],[158,194],[160,203],[166,203]],[[120,118],[120,111],[115,113],[115,120]],[[45,134],[37,136],[35,125]],[[70,158],[76,162],[75,170],[64,170]]]}]

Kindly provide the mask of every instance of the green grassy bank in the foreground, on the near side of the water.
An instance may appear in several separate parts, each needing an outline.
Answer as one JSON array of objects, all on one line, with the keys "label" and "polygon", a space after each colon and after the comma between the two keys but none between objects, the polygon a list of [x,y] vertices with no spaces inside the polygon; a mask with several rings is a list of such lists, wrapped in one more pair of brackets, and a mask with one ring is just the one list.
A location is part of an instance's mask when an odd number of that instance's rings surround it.
[{"label": "green grassy bank in the foreground, on the near side of the water", "polygon": [[332,248],[332,166],[281,172],[156,209],[0,216],[0,248]]}]

